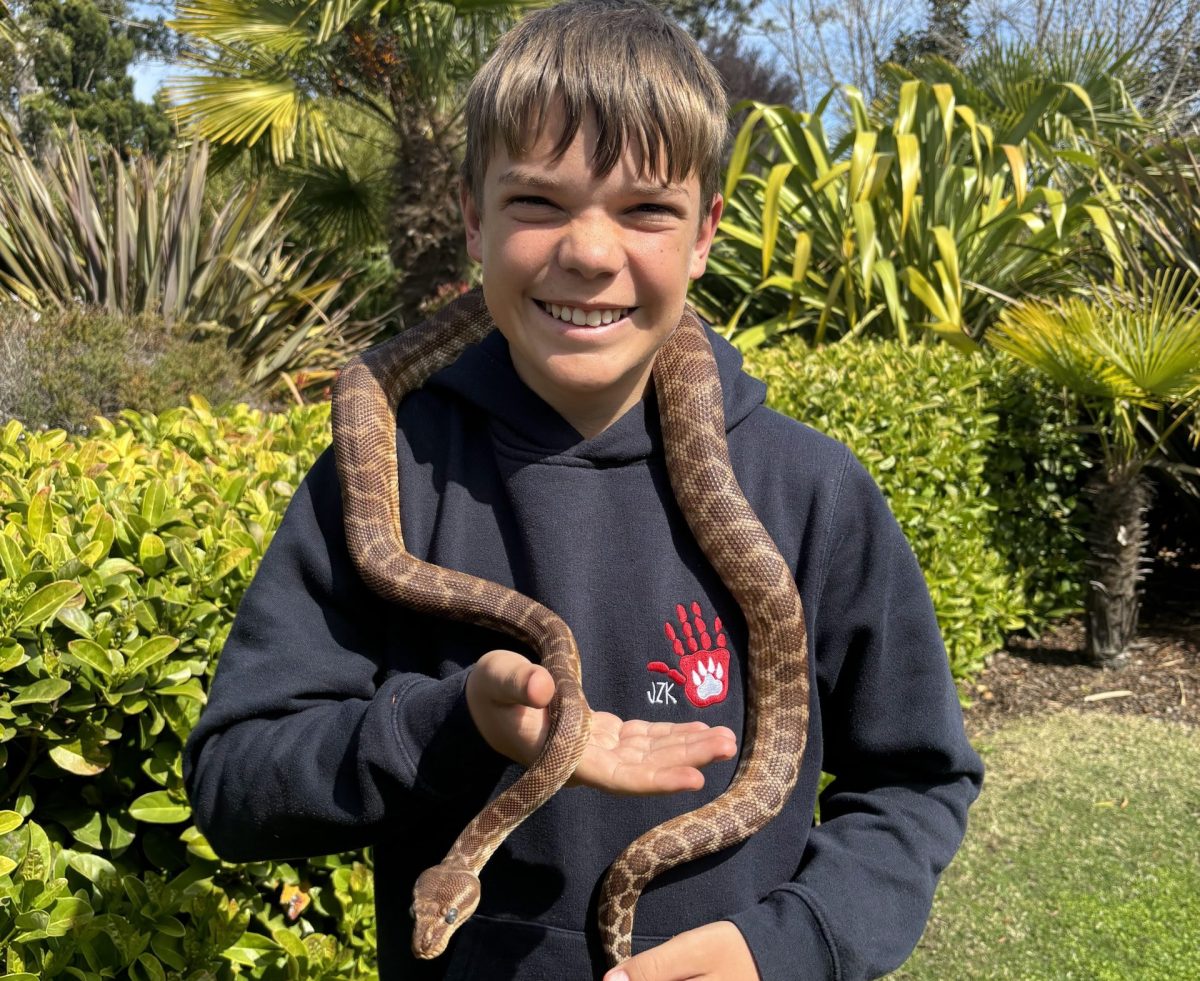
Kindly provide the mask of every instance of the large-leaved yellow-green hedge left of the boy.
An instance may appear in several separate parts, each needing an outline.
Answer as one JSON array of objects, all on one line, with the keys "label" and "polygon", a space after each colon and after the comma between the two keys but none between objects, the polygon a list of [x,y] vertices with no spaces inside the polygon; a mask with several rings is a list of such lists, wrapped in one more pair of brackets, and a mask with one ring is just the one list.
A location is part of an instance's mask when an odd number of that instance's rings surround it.
[{"label": "large-leaved yellow-green hedge left of the boy", "polygon": [[180,758],[328,439],[328,407],[217,419],[199,399],[86,439],[0,431],[4,971],[372,976],[364,857],[221,862],[190,824]]}]

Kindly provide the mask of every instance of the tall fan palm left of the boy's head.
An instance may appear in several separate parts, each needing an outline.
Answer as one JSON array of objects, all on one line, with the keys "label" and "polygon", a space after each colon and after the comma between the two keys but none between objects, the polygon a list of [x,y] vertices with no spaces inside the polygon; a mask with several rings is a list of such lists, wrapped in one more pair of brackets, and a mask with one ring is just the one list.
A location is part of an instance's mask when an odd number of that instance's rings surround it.
[{"label": "tall fan palm left of the boy's head", "polygon": [[[173,79],[175,114],[214,144],[218,163],[248,152],[258,168],[282,169],[306,229],[348,251],[385,242],[402,271],[396,299],[415,309],[462,264],[462,94],[530,5],[191,0],[172,26],[193,46],[186,60],[199,73]],[[362,165],[355,148],[380,125],[390,145]]]}]

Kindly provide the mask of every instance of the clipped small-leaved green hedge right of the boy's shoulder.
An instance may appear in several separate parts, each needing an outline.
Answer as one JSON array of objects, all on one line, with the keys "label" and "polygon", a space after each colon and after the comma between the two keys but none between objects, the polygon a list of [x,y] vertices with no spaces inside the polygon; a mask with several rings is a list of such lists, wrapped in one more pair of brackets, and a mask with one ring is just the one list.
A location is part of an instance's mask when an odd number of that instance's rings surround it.
[{"label": "clipped small-leaved green hedge right of the boy's shoulder", "polygon": [[748,356],[768,403],[846,443],[880,483],[925,572],[962,678],[1004,634],[1082,602],[1084,453],[1031,375],[985,354],[898,342]]}]

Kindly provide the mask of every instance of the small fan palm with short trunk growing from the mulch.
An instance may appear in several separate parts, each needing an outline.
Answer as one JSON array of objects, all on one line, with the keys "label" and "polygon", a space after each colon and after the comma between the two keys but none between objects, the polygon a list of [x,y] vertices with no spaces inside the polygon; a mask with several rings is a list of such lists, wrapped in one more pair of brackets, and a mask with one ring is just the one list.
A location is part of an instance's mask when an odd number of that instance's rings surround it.
[{"label": "small fan palm with short trunk growing from the mulch", "polygon": [[1145,470],[1165,462],[1168,440],[1200,409],[1200,279],[1164,271],[1128,290],[1092,285],[1086,296],[1019,303],[988,339],[1048,374],[1091,416],[1099,465],[1090,488],[1087,654],[1096,664],[1120,667],[1151,561]]}]

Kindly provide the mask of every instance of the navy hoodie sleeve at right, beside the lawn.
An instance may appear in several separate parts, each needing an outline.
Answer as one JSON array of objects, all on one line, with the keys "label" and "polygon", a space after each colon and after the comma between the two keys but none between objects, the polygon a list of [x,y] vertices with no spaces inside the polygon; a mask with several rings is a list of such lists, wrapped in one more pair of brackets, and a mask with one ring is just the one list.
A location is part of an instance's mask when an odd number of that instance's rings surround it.
[{"label": "navy hoodie sleeve at right, beside the lawn", "polygon": [[796,878],[731,917],[763,981],[900,967],[983,781],[917,560],[852,457],[828,542],[814,651],[834,780]]}]

